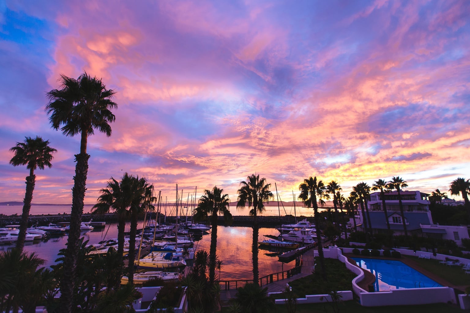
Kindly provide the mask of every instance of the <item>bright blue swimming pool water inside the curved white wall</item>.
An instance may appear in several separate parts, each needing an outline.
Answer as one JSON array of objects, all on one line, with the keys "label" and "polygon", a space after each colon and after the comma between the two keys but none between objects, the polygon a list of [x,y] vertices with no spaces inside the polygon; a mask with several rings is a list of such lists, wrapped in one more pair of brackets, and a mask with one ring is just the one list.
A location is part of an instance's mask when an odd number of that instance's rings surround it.
[{"label": "bright blue swimming pool water inside the curved white wall", "polygon": [[401,288],[442,287],[405,263],[395,260],[352,258],[356,263],[376,276],[375,291]]}]

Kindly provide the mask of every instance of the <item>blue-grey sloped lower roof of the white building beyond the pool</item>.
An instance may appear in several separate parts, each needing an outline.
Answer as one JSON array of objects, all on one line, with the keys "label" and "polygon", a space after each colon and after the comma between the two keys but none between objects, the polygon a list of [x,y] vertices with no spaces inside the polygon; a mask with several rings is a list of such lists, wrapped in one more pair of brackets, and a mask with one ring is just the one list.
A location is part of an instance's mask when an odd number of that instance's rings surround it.
[{"label": "blue-grey sloped lower roof of the white building beyond the pool", "polygon": [[[389,217],[393,214],[401,216],[398,212],[389,212]],[[407,221],[407,230],[421,229],[421,224],[431,224],[427,212],[404,212],[405,220]],[[387,229],[387,222],[385,221],[384,211],[369,211],[372,228]],[[367,214],[366,214],[367,217]],[[390,224],[392,230],[403,230],[403,224]]]}]

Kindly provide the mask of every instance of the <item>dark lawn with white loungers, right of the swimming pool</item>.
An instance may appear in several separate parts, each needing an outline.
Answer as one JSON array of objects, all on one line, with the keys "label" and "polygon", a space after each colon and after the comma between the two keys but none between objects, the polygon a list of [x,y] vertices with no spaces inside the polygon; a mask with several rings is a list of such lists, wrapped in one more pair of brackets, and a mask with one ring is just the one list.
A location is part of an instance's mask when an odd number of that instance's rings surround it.
[{"label": "dark lawn with white loungers, right of the swimming pool", "polygon": [[425,260],[419,259],[418,257],[404,256],[406,258],[413,259],[420,267],[430,271],[431,273],[438,275],[446,281],[453,283],[456,286],[470,285],[470,275],[465,274],[462,271],[461,266],[448,266],[440,264],[438,260]]}]

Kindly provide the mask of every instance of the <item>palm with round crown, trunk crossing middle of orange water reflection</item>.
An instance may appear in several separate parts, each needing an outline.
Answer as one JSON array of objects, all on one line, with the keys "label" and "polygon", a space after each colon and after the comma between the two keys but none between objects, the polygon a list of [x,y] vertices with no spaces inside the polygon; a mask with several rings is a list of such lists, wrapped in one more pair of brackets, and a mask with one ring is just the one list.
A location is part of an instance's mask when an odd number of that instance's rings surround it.
[{"label": "palm with round crown, trunk crossing middle of orange water reflection", "polygon": [[251,244],[251,253],[253,260],[253,283],[258,284],[258,213],[261,214],[265,210],[263,202],[273,198],[273,193],[269,191],[271,184],[266,184],[266,178],[259,179],[259,175],[252,174],[248,176],[246,182],[240,182],[242,187],[238,192],[237,209],[244,209],[248,203],[251,208],[250,215],[253,216],[253,242]]}]

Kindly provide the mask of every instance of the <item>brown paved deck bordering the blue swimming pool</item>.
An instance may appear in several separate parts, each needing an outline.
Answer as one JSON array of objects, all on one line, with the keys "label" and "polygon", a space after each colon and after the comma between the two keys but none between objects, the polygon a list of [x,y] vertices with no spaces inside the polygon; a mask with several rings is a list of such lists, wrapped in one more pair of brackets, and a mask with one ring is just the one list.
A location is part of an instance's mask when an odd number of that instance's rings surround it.
[{"label": "brown paved deck bordering the blue swimming pool", "polygon": [[[355,261],[350,259],[350,258],[354,258],[354,257],[360,257],[360,258],[363,258],[363,259],[377,259],[377,257],[373,257],[373,256],[356,255],[356,254],[352,254],[352,253],[345,253],[344,255],[345,255],[345,257],[347,257],[350,260],[350,262],[352,264],[355,264]],[[380,259],[381,260],[401,261],[401,262],[405,263],[407,266],[409,266],[409,267],[417,270],[418,272],[428,276],[433,281],[441,284],[442,286],[451,287],[451,288],[454,288],[454,289],[461,290],[463,292],[465,291],[465,288],[470,286],[470,285],[456,286],[453,283],[448,282],[444,278],[442,278],[442,277],[440,277],[440,276],[424,269],[423,267],[420,267],[418,262],[416,262],[412,258],[407,258],[406,256],[403,256],[399,259],[397,259],[397,258],[387,258],[387,257],[381,256]],[[372,291],[373,291],[374,289],[373,289],[372,285],[375,282],[375,276],[372,273],[370,273],[368,270],[364,270],[364,269],[362,269],[362,270],[365,274],[365,278],[361,282],[358,283],[359,287],[361,287],[362,289],[365,289],[365,290],[370,290],[369,286],[371,286]]]}]

